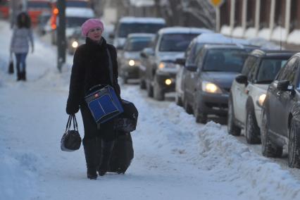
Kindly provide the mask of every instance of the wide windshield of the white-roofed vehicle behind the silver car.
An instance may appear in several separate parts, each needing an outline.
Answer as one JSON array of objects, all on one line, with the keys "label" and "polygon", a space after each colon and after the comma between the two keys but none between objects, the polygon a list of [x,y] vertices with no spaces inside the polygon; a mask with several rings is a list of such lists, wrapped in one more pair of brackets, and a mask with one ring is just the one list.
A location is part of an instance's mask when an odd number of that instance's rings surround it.
[{"label": "wide windshield of the white-roofed vehicle behind the silver car", "polygon": [[133,32],[156,33],[162,27],[165,27],[165,25],[156,23],[121,23],[118,27],[118,37],[127,37],[128,34]]}]

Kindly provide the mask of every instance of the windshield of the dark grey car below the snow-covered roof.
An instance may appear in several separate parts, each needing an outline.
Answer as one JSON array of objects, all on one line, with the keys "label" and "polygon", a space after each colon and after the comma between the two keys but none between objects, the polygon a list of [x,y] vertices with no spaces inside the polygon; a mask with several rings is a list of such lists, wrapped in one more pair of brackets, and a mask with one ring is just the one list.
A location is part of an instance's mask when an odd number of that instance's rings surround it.
[{"label": "windshield of the dark grey car below the snow-covered roof", "polygon": [[248,56],[247,51],[250,49],[210,49],[203,70],[239,73]]}]

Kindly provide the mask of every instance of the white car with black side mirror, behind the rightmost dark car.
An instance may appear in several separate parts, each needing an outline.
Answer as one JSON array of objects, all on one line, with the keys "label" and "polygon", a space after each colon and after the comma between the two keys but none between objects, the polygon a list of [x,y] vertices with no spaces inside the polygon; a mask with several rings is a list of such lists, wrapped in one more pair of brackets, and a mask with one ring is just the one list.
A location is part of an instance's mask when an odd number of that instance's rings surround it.
[{"label": "white car with black side mirror, behind the rightmost dark car", "polygon": [[235,77],[228,99],[227,129],[240,135],[245,129],[249,144],[261,142],[261,106],[268,86],[294,53],[256,49],[246,59],[242,73]]}]

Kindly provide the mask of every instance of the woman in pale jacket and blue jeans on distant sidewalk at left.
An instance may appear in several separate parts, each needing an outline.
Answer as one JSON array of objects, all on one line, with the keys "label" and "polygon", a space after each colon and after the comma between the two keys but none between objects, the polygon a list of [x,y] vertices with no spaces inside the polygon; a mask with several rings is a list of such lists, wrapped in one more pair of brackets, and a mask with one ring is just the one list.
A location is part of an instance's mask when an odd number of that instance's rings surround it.
[{"label": "woman in pale jacket and blue jeans on distant sidewalk at left", "polygon": [[26,80],[26,56],[29,51],[29,42],[33,53],[34,44],[30,29],[30,17],[27,13],[20,13],[17,16],[17,26],[13,29],[10,49],[11,55],[14,53],[17,61],[17,80]]}]

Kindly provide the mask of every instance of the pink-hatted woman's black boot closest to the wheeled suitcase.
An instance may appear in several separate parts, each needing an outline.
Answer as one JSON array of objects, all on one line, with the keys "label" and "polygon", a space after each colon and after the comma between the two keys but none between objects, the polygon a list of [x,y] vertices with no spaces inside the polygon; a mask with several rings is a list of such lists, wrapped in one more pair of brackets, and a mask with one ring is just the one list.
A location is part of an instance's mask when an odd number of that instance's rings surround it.
[{"label": "pink-hatted woman's black boot closest to the wheeled suitcase", "polygon": [[98,169],[98,173],[100,176],[106,174],[108,170],[109,161],[111,159],[111,152],[113,151],[113,144],[115,141],[104,141],[101,140],[101,160]]}]

